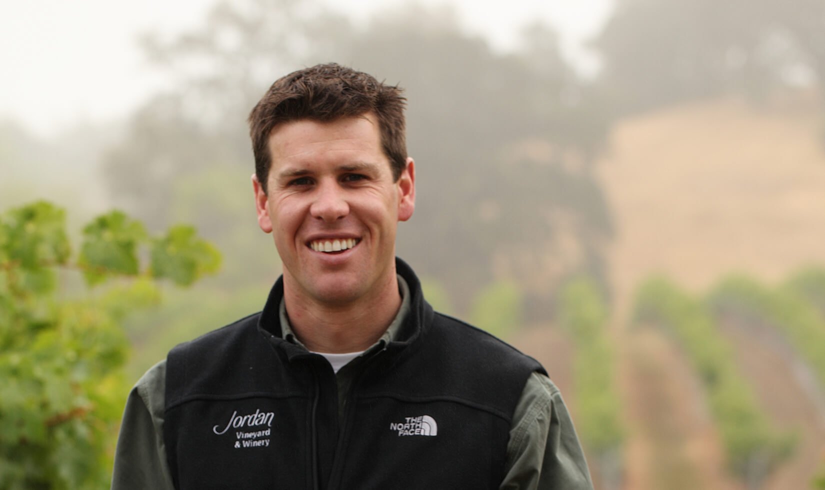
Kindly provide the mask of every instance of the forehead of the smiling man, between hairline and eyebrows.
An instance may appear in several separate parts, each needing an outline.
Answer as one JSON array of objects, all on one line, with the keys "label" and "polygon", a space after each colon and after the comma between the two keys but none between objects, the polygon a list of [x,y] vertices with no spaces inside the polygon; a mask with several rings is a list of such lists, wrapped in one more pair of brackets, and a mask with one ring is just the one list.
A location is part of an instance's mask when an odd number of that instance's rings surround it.
[{"label": "forehead of the smiling man, between hairline and eyebrows", "polygon": [[380,139],[378,122],[368,113],[332,121],[289,121],[272,130],[268,146],[275,165],[336,153],[381,153]]}]

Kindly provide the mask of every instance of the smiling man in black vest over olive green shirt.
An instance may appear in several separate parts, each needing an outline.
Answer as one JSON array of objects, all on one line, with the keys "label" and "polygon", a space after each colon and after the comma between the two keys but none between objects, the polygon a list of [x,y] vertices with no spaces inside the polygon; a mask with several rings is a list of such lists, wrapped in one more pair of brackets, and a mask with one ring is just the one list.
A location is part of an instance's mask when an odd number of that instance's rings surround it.
[{"label": "smiling man in black vest over olive green shirt", "polygon": [[434,313],[395,258],[404,103],[337,64],[258,102],[252,187],[283,276],[139,380],[112,488],[592,488],[542,367]]}]

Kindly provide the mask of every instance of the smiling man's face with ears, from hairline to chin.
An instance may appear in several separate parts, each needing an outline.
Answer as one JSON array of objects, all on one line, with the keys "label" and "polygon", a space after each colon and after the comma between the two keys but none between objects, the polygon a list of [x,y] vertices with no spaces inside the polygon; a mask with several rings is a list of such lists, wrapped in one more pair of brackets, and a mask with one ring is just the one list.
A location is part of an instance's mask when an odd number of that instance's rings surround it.
[{"label": "smiling man's face with ears, from hairline to chin", "polygon": [[398,221],[413,215],[412,159],[394,182],[370,113],[285,123],[269,151],[268,192],[252,181],[258,224],[273,233],[287,293],[326,305],[380,298],[396,280]]}]

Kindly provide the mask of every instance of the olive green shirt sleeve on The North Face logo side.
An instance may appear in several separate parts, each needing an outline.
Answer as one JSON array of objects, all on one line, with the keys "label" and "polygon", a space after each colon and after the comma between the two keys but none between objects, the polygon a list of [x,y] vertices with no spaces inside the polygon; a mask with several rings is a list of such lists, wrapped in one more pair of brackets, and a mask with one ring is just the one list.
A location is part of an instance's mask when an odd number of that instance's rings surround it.
[{"label": "olive green shirt sleeve on The North Face logo side", "polygon": [[513,413],[500,490],[592,490],[582,446],[559,389],[534,373]]}]

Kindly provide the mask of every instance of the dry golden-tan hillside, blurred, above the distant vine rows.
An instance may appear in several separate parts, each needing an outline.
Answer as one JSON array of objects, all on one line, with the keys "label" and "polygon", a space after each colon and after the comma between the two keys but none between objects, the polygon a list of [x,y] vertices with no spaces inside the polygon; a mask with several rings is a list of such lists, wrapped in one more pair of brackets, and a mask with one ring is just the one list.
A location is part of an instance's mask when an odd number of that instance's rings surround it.
[{"label": "dry golden-tan hillside, blurred, above the distant vine rows", "polygon": [[825,263],[817,104],[807,92],[759,105],[727,97],[614,126],[599,176],[616,222],[608,254],[620,307],[652,273],[701,290],[731,271],[775,282]]}]

